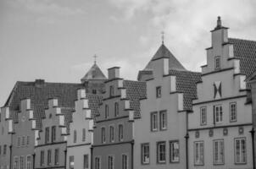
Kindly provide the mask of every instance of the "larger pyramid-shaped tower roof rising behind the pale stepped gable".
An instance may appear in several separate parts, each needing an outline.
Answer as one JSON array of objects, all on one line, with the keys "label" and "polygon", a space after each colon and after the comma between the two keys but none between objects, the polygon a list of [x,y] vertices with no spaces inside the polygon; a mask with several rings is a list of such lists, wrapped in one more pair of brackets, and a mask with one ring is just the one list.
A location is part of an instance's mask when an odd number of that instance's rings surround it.
[{"label": "larger pyramid-shaped tower roof rising behind the pale stepped gable", "polygon": [[149,63],[147,63],[146,68],[144,68],[144,70],[147,69],[152,69],[152,61],[157,60],[159,58],[169,58],[169,67],[170,69],[178,69],[178,70],[186,70],[186,68],[184,68],[182,66],[182,64],[177,60],[177,58],[170,52],[170,50],[164,46],[164,44],[162,44],[158,51],[153,55],[151,61]]}]

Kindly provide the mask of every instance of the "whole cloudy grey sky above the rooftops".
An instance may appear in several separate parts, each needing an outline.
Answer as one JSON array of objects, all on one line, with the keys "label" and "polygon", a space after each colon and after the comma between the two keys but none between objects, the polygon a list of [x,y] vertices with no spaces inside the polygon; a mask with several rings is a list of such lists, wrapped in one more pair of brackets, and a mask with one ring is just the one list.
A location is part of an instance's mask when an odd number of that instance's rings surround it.
[{"label": "whole cloudy grey sky above the rooftops", "polygon": [[217,16],[256,41],[255,0],[0,0],[0,106],[16,81],[79,83],[93,64],[136,79],[161,45],[192,71],[206,63]]}]

